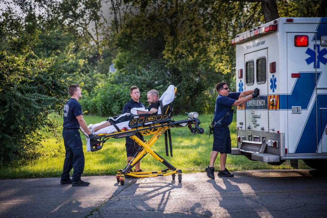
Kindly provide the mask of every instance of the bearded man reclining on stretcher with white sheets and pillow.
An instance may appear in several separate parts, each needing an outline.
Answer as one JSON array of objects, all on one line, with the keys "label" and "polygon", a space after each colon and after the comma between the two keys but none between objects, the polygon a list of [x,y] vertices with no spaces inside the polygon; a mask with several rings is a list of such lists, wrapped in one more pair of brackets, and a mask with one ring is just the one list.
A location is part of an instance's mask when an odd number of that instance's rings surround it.
[{"label": "bearded man reclining on stretcher with white sheets and pillow", "polygon": [[[88,127],[92,131],[93,134],[109,134],[112,132],[118,131],[117,128],[122,130],[123,128],[130,129],[129,120],[133,115],[143,114],[143,113],[152,113],[152,114],[161,114],[160,102],[162,101],[163,106],[171,103],[175,98],[175,86],[170,85],[161,98],[159,98],[159,92],[157,90],[150,90],[147,93],[147,102],[149,103],[149,107],[147,108],[132,108],[130,113],[119,114],[118,116],[110,117],[106,121],[103,121],[98,124],[90,124]],[[116,128],[117,127],[117,128]],[[90,139],[88,138],[88,134],[80,128],[84,133],[87,139],[86,143],[86,151],[91,150]]]}]

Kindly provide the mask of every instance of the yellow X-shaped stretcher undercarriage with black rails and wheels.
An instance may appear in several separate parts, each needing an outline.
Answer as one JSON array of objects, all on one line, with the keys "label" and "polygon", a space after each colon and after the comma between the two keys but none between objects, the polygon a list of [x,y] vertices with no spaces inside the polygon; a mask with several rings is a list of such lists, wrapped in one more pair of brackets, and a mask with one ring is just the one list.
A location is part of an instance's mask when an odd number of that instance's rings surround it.
[{"label": "yellow X-shaped stretcher undercarriage with black rails and wheels", "polygon": [[[178,174],[178,181],[181,183],[182,180],[182,171],[177,170],[173,165],[171,165],[167,160],[162,158],[159,154],[157,154],[151,147],[157,142],[157,140],[171,127],[180,126],[182,123],[187,123],[188,127],[191,130],[192,134],[203,134],[204,130],[200,128],[198,125],[200,121],[198,119],[185,119],[179,121],[173,121],[167,123],[157,123],[150,124],[149,126],[143,126],[139,128],[132,128],[130,130],[123,129],[120,132],[113,132],[110,134],[99,134],[95,137],[95,143],[91,143],[91,146],[100,146],[102,148],[103,143],[109,138],[125,138],[130,137],[133,141],[140,145],[139,150],[135,153],[133,159],[126,165],[126,167],[122,170],[118,170],[116,174],[117,182],[120,185],[124,185],[125,178],[144,178],[144,177],[157,177],[157,176],[169,176],[172,175],[172,179],[175,179],[175,174]],[[195,127],[191,127],[194,124]],[[140,140],[135,134],[140,132],[142,135],[152,135],[152,137],[147,141],[143,142]],[[102,143],[102,145],[101,145]],[[163,163],[167,168],[161,171],[148,171],[148,172],[131,172],[130,170],[134,167],[136,163],[138,163],[141,159],[143,159],[147,154],[154,157],[156,160]],[[169,171],[170,172],[167,172]]]}]

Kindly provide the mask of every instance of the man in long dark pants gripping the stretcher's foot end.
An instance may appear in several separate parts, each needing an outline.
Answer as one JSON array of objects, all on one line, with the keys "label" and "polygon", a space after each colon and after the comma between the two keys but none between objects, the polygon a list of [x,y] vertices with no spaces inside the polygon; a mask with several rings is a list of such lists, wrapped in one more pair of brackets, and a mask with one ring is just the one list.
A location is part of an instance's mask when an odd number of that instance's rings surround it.
[{"label": "man in long dark pants gripping the stretcher's foot end", "polygon": [[[81,180],[84,170],[84,153],[82,140],[79,134],[79,126],[89,134],[90,139],[94,139],[94,135],[87,127],[82,113],[82,106],[78,103],[78,99],[82,97],[82,92],[78,84],[70,85],[68,92],[71,96],[63,109],[63,130],[62,136],[66,150],[66,157],[63,163],[63,171],[61,174],[61,184],[72,184],[72,186],[88,186],[89,182]],[[69,173],[74,168],[73,178],[70,179]]]}]

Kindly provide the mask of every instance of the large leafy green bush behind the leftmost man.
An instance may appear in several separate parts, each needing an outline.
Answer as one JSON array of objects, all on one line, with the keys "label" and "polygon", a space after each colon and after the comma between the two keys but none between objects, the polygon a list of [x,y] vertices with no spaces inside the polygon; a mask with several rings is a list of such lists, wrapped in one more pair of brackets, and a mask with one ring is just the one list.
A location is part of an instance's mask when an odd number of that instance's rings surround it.
[{"label": "large leafy green bush behind the leftmost man", "polygon": [[0,52],[0,164],[41,155],[39,131],[44,126],[52,133],[58,129],[47,116],[62,110],[69,68],[65,60]]}]

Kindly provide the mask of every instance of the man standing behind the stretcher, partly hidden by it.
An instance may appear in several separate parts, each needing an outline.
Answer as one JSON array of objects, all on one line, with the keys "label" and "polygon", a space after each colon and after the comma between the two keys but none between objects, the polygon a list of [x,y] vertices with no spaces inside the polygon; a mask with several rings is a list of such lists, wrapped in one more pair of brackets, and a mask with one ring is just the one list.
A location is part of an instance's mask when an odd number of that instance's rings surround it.
[{"label": "man standing behind the stretcher, partly hidden by it", "polygon": [[[129,88],[129,94],[131,99],[124,105],[122,113],[130,113],[130,109],[132,108],[145,108],[144,104],[140,102],[140,90],[137,86],[132,86]],[[144,141],[143,135],[141,133],[136,133],[136,136]],[[126,153],[127,153],[127,164],[133,158],[134,154],[137,152],[139,147],[131,138],[126,137]],[[135,164],[135,171],[140,172],[140,161]]]}]

